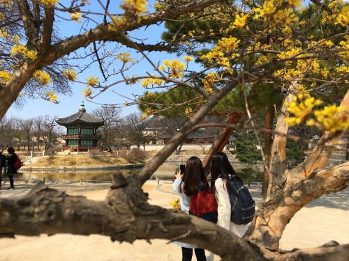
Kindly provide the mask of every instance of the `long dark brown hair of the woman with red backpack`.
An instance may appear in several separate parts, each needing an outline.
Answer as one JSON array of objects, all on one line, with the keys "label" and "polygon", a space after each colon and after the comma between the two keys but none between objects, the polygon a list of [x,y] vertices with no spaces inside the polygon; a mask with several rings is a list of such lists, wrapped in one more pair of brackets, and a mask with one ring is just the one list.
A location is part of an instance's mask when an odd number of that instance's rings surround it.
[{"label": "long dark brown hair of the woman with red backpack", "polygon": [[190,157],[186,161],[186,168],[179,184],[179,192],[182,193],[184,183],[183,193],[187,196],[193,195],[198,191],[200,181],[202,185],[209,187],[201,160],[198,157]]}]

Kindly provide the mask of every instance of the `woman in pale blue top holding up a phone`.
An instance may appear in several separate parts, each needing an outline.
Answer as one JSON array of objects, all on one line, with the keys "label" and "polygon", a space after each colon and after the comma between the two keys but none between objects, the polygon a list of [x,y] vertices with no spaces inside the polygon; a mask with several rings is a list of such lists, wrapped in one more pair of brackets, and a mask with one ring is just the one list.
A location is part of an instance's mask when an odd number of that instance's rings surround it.
[{"label": "woman in pale blue top holding up a phone", "polygon": [[[186,161],[184,173],[181,174],[179,172],[175,177],[176,180],[173,182],[172,189],[175,193],[179,194],[181,211],[189,213],[193,193],[197,193],[199,187],[209,187],[201,160],[198,157],[190,157]],[[207,260],[205,249],[196,248],[195,246],[181,242],[174,242],[174,244],[181,246],[182,261],[191,261],[193,249],[198,261]]]}]

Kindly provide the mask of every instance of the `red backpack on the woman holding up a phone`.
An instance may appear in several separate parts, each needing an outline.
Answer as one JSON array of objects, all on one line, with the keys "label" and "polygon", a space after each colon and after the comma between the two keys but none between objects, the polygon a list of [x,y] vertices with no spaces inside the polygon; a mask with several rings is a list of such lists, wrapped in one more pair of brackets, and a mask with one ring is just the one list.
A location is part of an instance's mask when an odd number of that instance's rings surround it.
[{"label": "red backpack on the woman holding up a phone", "polygon": [[217,223],[217,201],[210,189],[201,187],[198,193],[191,196],[191,205],[189,206],[189,214],[198,216],[213,223]]}]

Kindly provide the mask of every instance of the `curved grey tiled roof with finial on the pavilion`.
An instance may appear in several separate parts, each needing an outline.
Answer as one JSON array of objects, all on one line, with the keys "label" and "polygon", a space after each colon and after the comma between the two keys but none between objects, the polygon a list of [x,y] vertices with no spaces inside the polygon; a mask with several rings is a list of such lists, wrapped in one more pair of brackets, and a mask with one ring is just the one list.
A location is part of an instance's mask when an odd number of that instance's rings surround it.
[{"label": "curved grey tiled roof with finial on the pavilion", "polygon": [[77,113],[74,113],[73,115],[70,115],[66,118],[59,118],[56,120],[56,122],[59,125],[63,125],[63,126],[72,125],[74,123],[86,124],[86,125],[98,125],[98,126],[104,125],[104,120],[86,112],[83,102]]}]

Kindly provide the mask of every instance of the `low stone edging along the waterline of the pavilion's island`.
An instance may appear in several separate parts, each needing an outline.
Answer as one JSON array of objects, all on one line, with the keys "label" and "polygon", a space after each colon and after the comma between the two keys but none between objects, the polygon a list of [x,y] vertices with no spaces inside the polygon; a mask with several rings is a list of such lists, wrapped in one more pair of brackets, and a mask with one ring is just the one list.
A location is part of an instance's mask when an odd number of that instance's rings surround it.
[{"label": "low stone edging along the waterline of the pavilion's island", "polygon": [[[108,170],[130,170],[142,168],[145,164],[124,164],[104,166],[57,166],[57,167],[22,167],[20,171],[108,171]],[[19,171],[19,172],[20,172]]]}]

